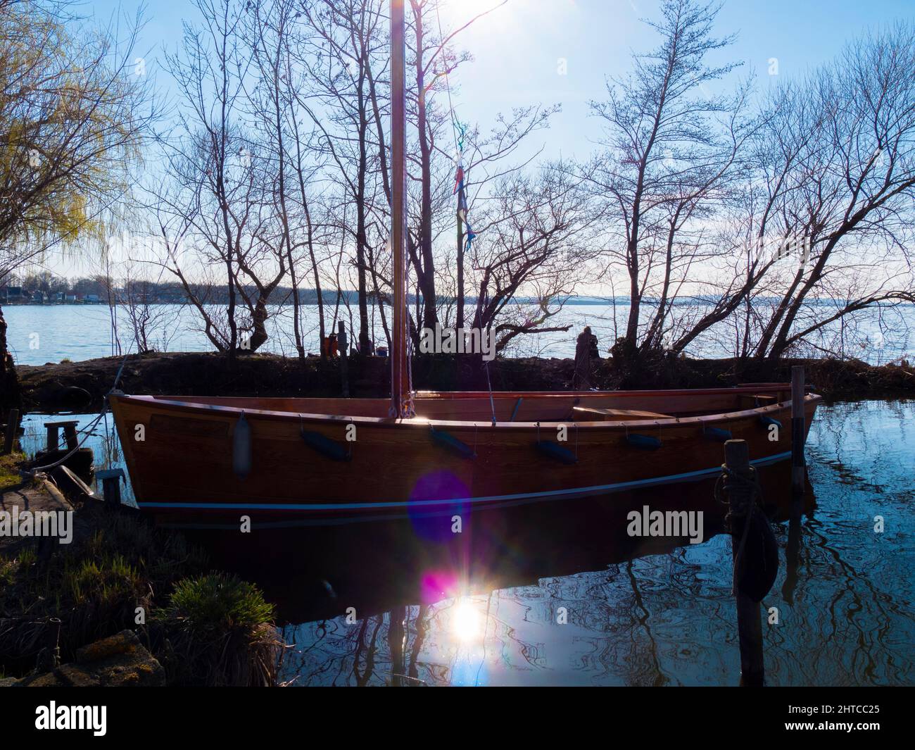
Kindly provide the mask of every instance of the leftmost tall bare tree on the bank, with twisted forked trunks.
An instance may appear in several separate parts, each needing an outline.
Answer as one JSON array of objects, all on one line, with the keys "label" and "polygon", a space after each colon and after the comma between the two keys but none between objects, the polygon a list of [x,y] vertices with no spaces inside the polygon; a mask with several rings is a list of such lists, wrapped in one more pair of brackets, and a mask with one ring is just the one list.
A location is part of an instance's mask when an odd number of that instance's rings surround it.
[{"label": "leftmost tall bare tree on the bank, with twisted forked trunks", "polygon": [[284,161],[277,161],[270,141],[262,140],[263,131],[249,121],[245,87],[257,39],[245,35],[244,14],[252,5],[233,0],[196,0],[196,5],[201,25],[186,24],[180,53],[167,57],[182,106],[178,126],[160,139],[173,181],[156,190],[156,200],[188,220],[197,259],[224,269],[223,327],[207,300],[199,299],[178,257],[168,258],[210,342],[231,357],[266,342],[268,302],[288,270],[283,207],[274,201],[273,188]]}]

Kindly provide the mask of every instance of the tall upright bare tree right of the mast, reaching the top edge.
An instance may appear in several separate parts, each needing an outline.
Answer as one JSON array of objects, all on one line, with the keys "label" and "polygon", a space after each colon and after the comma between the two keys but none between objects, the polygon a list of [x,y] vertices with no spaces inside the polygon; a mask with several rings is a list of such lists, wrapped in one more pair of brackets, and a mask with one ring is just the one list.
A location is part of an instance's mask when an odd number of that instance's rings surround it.
[{"label": "tall upright bare tree right of the mast, reaching the top edge", "polygon": [[[638,343],[641,303],[658,255],[665,279],[651,341],[662,329],[677,234],[703,212],[737,153],[737,141],[716,136],[710,122],[734,112],[734,103],[705,88],[737,67],[705,65],[709,52],[733,40],[712,36],[717,10],[695,0],[664,0],[661,20],[648,22],[661,35],[660,46],[637,56],[629,77],[608,82],[607,100],[591,103],[605,123],[606,150],[583,176],[604,203],[610,236],[619,238],[609,254],[611,267],[620,262],[629,277],[629,352]],[[732,126],[733,135],[736,120]]]}]

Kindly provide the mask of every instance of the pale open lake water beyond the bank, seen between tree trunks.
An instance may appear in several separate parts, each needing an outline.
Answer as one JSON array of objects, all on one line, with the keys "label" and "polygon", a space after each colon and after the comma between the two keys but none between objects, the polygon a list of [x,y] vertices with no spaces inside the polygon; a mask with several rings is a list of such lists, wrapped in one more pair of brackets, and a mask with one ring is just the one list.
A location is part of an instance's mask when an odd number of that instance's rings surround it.
[{"label": "pale open lake water beyond the bank, seen between tree trunks", "polygon": [[[536,310],[520,306],[519,314],[533,315]],[[344,320],[349,323],[349,313],[342,309]],[[822,307],[823,317],[832,308]],[[693,305],[674,308],[677,317],[695,316],[698,309]],[[302,335],[306,348],[318,353],[317,308],[302,308]],[[618,332],[625,329],[627,309],[625,305],[616,309],[605,304],[568,305],[554,319],[551,326],[570,325],[568,332],[550,332],[536,336],[522,336],[515,340],[507,352],[510,356],[553,356],[572,357],[575,355],[576,336],[582,328],[590,325],[600,342],[600,350],[606,352],[615,341]],[[111,356],[113,353],[136,351],[132,342],[132,328],[126,310],[117,309],[117,341],[120,349],[113,346],[112,319],[110,310],[104,305],[14,305],[4,308],[8,324],[10,351],[17,364],[58,363],[67,358],[73,362],[95,357]],[[264,352],[295,354],[292,308],[271,309],[268,320],[270,339],[262,347]],[[199,318],[194,310],[179,305],[153,306],[154,322],[148,341],[153,348],[167,352],[207,352],[213,345],[200,330]],[[372,318],[374,341],[384,342],[381,319]],[[329,321],[328,321],[329,327]],[[844,324],[835,323],[825,329],[823,345],[836,353],[864,359],[872,364],[882,364],[901,357],[915,359],[915,307],[899,306],[893,309],[868,310],[849,319]],[[735,336],[730,327],[708,332],[698,338],[687,349],[695,357],[727,357],[734,355]],[[810,349],[813,356],[822,351]]]}]

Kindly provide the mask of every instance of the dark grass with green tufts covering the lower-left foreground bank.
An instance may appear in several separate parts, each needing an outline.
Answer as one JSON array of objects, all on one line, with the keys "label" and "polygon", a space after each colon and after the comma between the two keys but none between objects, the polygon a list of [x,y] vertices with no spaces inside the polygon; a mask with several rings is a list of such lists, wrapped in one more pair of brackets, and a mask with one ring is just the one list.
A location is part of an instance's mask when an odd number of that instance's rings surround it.
[{"label": "dark grass with green tufts covering the lower-left foreground bank", "polygon": [[[178,534],[120,514],[86,510],[91,535],[41,559],[35,547],[0,556],[0,672],[24,675],[53,648],[77,648],[134,629],[171,684],[273,685],[282,642],[274,609],[251,583],[206,573],[207,560]],[[141,626],[142,627],[142,626]]]}]

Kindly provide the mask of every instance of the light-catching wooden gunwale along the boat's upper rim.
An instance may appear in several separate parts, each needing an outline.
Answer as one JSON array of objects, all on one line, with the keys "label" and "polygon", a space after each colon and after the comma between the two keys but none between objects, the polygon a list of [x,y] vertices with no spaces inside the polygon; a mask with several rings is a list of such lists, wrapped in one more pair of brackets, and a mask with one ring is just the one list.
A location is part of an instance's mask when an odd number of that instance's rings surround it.
[{"label": "light-catching wooden gunwale along the boat's upper rim", "polygon": [[[748,390],[758,390],[749,388]],[[639,395],[648,395],[649,393],[663,393],[667,396],[672,395],[695,395],[695,396],[709,396],[709,395],[720,395],[720,394],[729,394],[738,392],[737,388],[717,388],[714,390],[705,390],[705,391],[691,391],[691,390],[682,390],[682,391],[585,391],[582,392],[582,395],[585,396],[599,396],[602,393],[626,393],[626,394],[639,394]],[[469,391],[464,393],[471,393]],[[489,395],[488,392],[483,391],[483,394]],[[533,393],[533,392],[529,392]],[[570,392],[569,394],[554,394],[552,392],[546,391],[543,392],[548,396],[556,397],[574,397],[575,392]],[[219,416],[224,417],[234,417],[237,418],[244,412],[246,415],[252,417],[264,418],[270,421],[290,421],[298,418],[302,422],[307,422],[309,424],[318,422],[318,423],[334,423],[334,424],[358,424],[358,425],[373,425],[379,428],[402,428],[402,427],[414,427],[414,428],[442,428],[442,429],[469,429],[469,428],[483,428],[483,429],[497,429],[497,430],[532,430],[537,429],[538,427],[543,427],[544,425],[557,425],[557,424],[569,424],[576,425],[577,428],[584,428],[587,431],[598,430],[598,429],[637,429],[637,428],[651,428],[651,427],[689,427],[689,426],[703,426],[709,423],[729,423],[736,422],[742,419],[747,419],[751,417],[760,417],[769,414],[770,412],[783,411],[786,408],[791,408],[791,400],[780,401],[776,404],[769,404],[764,407],[754,407],[748,409],[740,409],[737,411],[725,411],[717,412],[715,414],[703,414],[697,415],[694,417],[671,417],[666,419],[632,419],[632,420],[597,420],[597,421],[577,421],[575,419],[549,419],[549,420],[540,420],[536,422],[510,422],[510,421],[497,421],[492,422],[489,419],[479,419],[477,421],[469,420],[458,420],[458,419],[429,419],[423,417],[414,417],[409,419],[394,419],[391,417],[364,417],[364,416],[347,416],[339,414],[312,414],[306,412],[295,412],[295,411],[274,411],[271,409],[259,409],[259,408],[244,408],[244,407],[229,407],[221,406],[215,404],[203,404],[193,401],[173,401],[169,400],[168,397],[157,397],[157,396],[128,396],[116,395],[113,396],[119,400],[123,400],[127,403],[139,404],[146,407],[155,407],[156,405],[161,405],[166,407],[168,411],[182,411],[182,412],[191,412],[191,413],[201,413],[201,412],[210,412],[215,413]],[[823,399],[822,396],[816,394],[807,394],[804,397],[804,408],[806,410],[809,404],[816,404],[817,402]],[[330,400],[330,399],[328,399]],[[369,400],[369,399],[366,399]],[[456,399],[457,400],[457,399]]]}]

